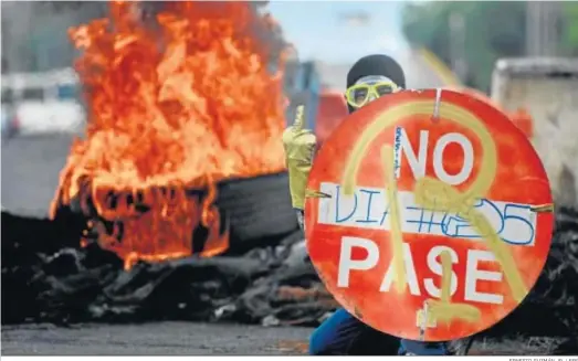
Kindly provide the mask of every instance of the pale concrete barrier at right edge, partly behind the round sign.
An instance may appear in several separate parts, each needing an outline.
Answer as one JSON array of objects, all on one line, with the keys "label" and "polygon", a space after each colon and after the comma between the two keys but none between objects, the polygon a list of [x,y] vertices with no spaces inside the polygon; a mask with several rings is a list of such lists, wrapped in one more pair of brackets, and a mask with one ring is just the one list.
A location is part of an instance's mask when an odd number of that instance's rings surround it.
[{"label": "pale concrete barrier at right edge, partly behind the round sign", "polygon": [[506,110],[527,110],[532,142],[542,158],[557,205],[578,206],[578,60],[501,60],[492,99]]}]

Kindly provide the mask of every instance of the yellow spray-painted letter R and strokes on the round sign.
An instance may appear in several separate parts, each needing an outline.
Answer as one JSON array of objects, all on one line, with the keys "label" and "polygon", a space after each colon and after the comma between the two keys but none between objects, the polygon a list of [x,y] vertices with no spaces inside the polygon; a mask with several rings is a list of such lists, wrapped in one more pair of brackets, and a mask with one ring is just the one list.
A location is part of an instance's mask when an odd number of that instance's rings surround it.
[{"label": "yellow spray-painted letter R and strokes on the round sign", "polygon": [[[354,149],[346,162],[343,178],[343,192],[345,195],[353,195],[356,187],[356,181],[359,173],[359,168],[364,157],[366,156],[371,142],[380,134],[382,129],[387,129],[395,126],[398,119],[406,118],[408,116],[431,116],[434,113],[437,104],[431,100],[418,100],[409,102],[399,106],[391,107],[386,112],[381,113],[376,119],[369,124],[366,129],[359,136]],[[472,182],[470,188],[464,192],[459,192],[455,188],[446,184],[440,180],[423,177],[419,179],[414,184],[416,203],[430,211],[456,213],[458,216],[465,219],[472,227],[480,234],[481,237],[485,238],[487,247],[494,253],[497,263],[501,265],[506,283],[511,289],[512,296],[516,301],[522,299],[528,293],[522,276],[516,268],[514,258],[509,253],[507,246],[502,242],[497,233],[493,230],[491,223],[481,212],[476,211],[473,206],[477,199],[483,198],[490,190],[497,167],[497,151],[492,138],[492,135],[484,126],[483,121],[475,115],[470,113],[460,106],[441,103],[438,104],[438,114],[444,119],[455,121],[473,134],[477,135],[482,145],[481,167],[480,173]],[[388,146],[386,146],[388,147]],[[389,146],[391,148],[391,146]],[[387,149],[387,148],[386,148]],[[387,153],[388,151],[386,151]],[[383,157],[383,150],[381,152]],[[389,155],[388,155],[389,156]],[[396,190],[393,169],[390,161],[390,157],[385,157],[385,167],[388,174],[388,190]],[[392,162],[392,161],[391,161]],[[390,206],[397,206],[396,191],[392,197],[388,194]],[[399,213],[390,214],[391,230],[396,229],[397,225],[401,224]],[[400,230],[400,227],[398,227]],[[393,243],[396,235],[392,231]],[[401,231],[399,231],[401,233]],[[393,246],[393,259],[401,259],[403,257],[400,247]],[[404,268],[401,267],[400,272],[396,273],[395,283],[404,285]],[[401,287],[401,286],[398,286]],[[452,305],[440,300],[431,301],[433,314],[442,319],[448,319],[450,315],[453,317],[460,317],[465,320],[475,321],[480,317],[480,310],[470,305]],[[474,310],[475,309],[475,310]]]}]

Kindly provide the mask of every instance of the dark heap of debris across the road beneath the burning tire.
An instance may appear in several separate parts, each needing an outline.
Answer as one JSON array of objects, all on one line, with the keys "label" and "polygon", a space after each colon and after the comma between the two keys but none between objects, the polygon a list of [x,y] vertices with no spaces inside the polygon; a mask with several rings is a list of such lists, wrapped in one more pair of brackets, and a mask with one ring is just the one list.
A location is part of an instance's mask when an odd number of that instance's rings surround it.
[{"label": "dark heap of debris across the road beneath the burning tire", "polygon": [[[81,225],[73,214],[59,223],[2,212],[2,221],[3,325],[189,320],[316,326],[338,307],[308,261],[301,231],[243,254],[139,262],[124,270],[115,253],[95,243],[76,245],[74,229]],[[558,350],[576,350],[577,279],[578,212],[560,209],[535,288],[484,336],[550,337],[561,340]]]}]

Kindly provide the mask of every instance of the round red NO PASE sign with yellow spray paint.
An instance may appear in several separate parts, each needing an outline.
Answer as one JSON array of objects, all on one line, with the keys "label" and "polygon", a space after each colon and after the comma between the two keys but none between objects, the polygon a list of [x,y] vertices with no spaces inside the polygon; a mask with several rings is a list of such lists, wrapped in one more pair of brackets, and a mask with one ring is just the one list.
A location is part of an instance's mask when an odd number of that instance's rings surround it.
[{"label": "round red NO PASE sign with yellow spray paint", "polygon": [[400,338],[466,337],[512,312],[548,254],[544,167],[507,116],[450,91],[407,91],[348,116],[318,151],[305,203],[328,290]]}]

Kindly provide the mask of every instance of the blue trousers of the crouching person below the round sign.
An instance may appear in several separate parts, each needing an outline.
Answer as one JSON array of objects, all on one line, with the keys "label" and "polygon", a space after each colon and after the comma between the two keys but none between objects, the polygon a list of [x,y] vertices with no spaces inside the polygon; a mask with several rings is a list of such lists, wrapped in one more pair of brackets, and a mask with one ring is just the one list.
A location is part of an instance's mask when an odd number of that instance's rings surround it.
[{"label": "blue trousers of the crouching person below the round sign", "polygon": [[399,340],[359,321],[345,309],[338,309],[311,336],[309,354],[349,355],[442,355],[448,354],[444,342]]}]

